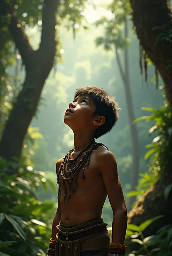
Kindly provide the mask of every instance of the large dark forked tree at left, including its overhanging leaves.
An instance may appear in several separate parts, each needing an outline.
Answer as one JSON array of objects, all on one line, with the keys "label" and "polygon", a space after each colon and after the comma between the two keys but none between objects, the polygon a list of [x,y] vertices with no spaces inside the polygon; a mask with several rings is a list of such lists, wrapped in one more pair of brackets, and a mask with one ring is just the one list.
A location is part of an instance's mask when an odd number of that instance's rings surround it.
[{"label": "large dark forked tree at left, including its overhanging leaves", "polygon": [[[79,1],[81,7],[79,10],[75,1],[74,3],[73,1],[63,1],[61,5],[60,0],[52,0],[51,3],[48,0],[44,0],[44,3],[41,0],[36,0],[32,1],[33,5],[30,4],[30,1],[17,1],[15,5],[13,1],[9,3],[6,0],[1,3],[0,28],[5,31],[8,27],[8,31],[15,42],[15,47],[20,52],[25,66],[25,81],[5,123],[0,142],[0,155],[8,161],[14,159],[18,161],[20,158],[26,131],[36,112],[45,80],[53,67],[57,51],[56,46],[58,46],[57,42],[59,41],[56,29],[60,19],[68,15],[70,25],[66,23],[66,26],[68,28],[72,26],[75,32],[77,25],[81,25],[83,18],[81,12],[83,11],[84,3],[84,0]],[[21,8],[19,8],[20,4]],[[27,17],[26,21],[32,27],[36,25],[38,20],[41,20],[42,13],[41,42],[37,50],[33,50],[24,31],[24,25],[22,24],[26,24],[26,22],[22,23],[16,16],[17,9],[19,17],[29,16],[26,12],[23,15],[23,7],[28,13],[30,11],[30,19]]]}]

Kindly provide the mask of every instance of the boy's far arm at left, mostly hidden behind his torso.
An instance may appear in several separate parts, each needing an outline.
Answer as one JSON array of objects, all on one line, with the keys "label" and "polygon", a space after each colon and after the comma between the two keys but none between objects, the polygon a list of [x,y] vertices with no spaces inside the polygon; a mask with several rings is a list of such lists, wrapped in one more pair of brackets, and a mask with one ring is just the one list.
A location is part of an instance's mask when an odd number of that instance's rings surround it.
[{"label": "boy's far arm at left, mostly hidden behind his torso", "polygon": [[[59,159],[56,163],[56,174],[60,168],[60,165],[63,161],[63,158]],[[61,191],[58,195],[58,207],[57,207],[57,212],[54,216],[53,219],[53,226],[52,226],[52,240],[56,240],[56,235],[58,233],[56,226],[59,224],[59,222],[61,221]]]}]

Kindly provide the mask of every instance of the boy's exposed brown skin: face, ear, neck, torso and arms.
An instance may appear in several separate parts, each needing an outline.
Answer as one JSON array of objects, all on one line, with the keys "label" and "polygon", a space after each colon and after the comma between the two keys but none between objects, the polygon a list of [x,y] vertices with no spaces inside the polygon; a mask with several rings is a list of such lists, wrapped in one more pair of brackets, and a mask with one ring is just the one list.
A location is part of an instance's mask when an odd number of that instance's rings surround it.
[{"label": "boy's exposed brown skin: face, ear, neck, torso and arms", "polygon": [[[69,104],[73,113],[66,112],[64,122],[74,132],[75,150],[71,158],[75,158],[94,139],[94,131],[105,123],[105,117],[93,116],[95,105],[88,97],[79,97]],[[78,161],[83,157],[82,153]],[[56,163],[58,172],[63,158]],[[52,239],[56,239],[56,225],[79,224],[93,219],[102,218],[102,208],[106,196],[110,201],[114,214],[112,221],[112,243],[124,243],[127,227],[127,211],[121,183],[118,177],[117,164],[114,155],[106,148],[99,146],[93,150],[90,163],[85,167],[85,180],[78,173],[75,196],[64,203],[64,187],[60,175],[61,190],[58,198],[58,208],[53,220]],[[69,196],[69,186],[66,184],[66,199]],[[67,201],[67,200],[66,200]]]}]

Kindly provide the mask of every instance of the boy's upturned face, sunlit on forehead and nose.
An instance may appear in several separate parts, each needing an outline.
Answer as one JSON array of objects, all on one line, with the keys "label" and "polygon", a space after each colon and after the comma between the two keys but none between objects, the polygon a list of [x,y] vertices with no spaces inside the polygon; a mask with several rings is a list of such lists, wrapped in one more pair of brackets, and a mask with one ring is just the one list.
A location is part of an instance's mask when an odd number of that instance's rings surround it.
[{"label": "boy's upturned face, sunlit on forehead and nose", "polygon": [[88,96],[77,97],[69,104],[69,108],[66,110],[64,116],[64,122],[73,131],[88,128],[92,130],[95,109],[95,104],[91,98]]}]

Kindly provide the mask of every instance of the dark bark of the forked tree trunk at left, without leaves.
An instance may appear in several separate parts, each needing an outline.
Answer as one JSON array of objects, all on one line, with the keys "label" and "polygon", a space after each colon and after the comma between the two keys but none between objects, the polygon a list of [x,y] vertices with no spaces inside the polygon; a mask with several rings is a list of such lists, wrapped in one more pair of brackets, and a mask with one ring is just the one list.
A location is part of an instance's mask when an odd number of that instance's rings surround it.
[{"label": "dark bark of the forked tree trunk at left, without leaves", "polygon": [[0,155],[8,161],[14,159],[18,161],[20,158],[26,131],[36,111],[45,80],[53,66],[56,54],[56,41],[54,40],[56,11],[59,1],[52,0],[51,3],[48,0],[44,1],[40,48],[33,51],[22,27],[17,27],[19,23],[17,18],[3,0],[5,15],[9,12],[12,15],[9,30],[26,69],[23,88],[9,115],[0,142]]}]

